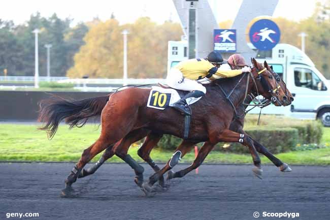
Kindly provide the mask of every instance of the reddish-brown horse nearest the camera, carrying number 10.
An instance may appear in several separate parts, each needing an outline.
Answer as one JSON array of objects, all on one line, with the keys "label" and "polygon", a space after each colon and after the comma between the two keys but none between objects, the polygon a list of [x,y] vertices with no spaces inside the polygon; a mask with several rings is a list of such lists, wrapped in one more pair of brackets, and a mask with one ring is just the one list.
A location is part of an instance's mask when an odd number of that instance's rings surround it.
[{"label": "reddish-brown horse nearest the camera, carrying number 10", "polygon": [[[206,141],[206,144],[202,147],[202,149],[207,149],[206,152],[220,141],[242,142],[250,149],[254,165],[256,166],[255,169],[261,170],[260,159],[250,137],[228,129],[234,117],[234,112],[233,107],[223,98],[220,89],[221,86],[224,90],[228,90],[228,88],[232,88],[235,84],[241,82],[232,93],[232,97],[230,97],[236,107],[243,102],[245,93],[259,90],[260,94],[265,97],[275,97],[275,92],[269,93],[268,90],[275,91],[277,89],[276,80],[267,69],[262,69],[262,66],[258,64],[255,59],[253,59],[253,64],[255,68],[253,68],[252,77],[250,79],[248,79],[249,74],[243,74],[230,79],[216,80],[214,83],[206,86],[208,91],[207,95],[192,106],[193,115],[188,138],[190,142]],[[261,78],[261,83],[257,82],[253,84],[252,79],[255,78]],[[262,88],[264,88],[264,92],[261,92]],[[172,134],[177,137],[183,137],[183,117],[172,108],[167,108],[163,111],[147,108],[146,102],[149,92],[150,89],[127,88],[121,92],[113,93],[110,96],[109,102],[103,109],[101,115],[101,136],[94,144],[84,150],[81,159],[65,180],[64,195],[70,192],[71,185],[76,181],[82,168],[97,153],[100,153],[122,138],[138,132],[137,130],[147,129],[155,133]],[[278,89],[276,96],[283,102],[285,94],[281,88]],[[279,104],[275,103],[275,105]],[[72,107],[72,109],[75,108]],[[58,111],[62,113],[63,111],[67,111],[68,113],[72,109],[59,109]],[[56,132],[57,125],[51,120],[47,120],[47,113],[49,112],[41,110],[40,119],[46,119],[44,121],[47,121],[47,125],[41,129],[49,130],[49,134],[52,136]],[[73,111],[71,115],[76,113],[77,112]],[[61,117],[65,118],[63,115],[58,115],[56,117],[57,119],[61,119]],[[207,153],[201,153],[201,155],[203,159]],[[129,160],[129,158],[126,157],[126,160]],[[171,164],[171,161],[168,164]],[[156,173],[156,175],[153,175],[152,178],[149,179],[149,185],[153,184],[158,179],[157,175],[159,175],[159,173]]]}]

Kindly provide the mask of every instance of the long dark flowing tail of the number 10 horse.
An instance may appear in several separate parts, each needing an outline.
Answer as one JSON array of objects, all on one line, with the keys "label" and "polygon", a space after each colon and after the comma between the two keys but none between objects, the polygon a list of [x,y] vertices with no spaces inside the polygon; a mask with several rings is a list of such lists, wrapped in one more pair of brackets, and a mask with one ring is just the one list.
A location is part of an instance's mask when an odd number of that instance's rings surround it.
[{"label": "long dark flowing tail of the number 10 horse", "polygon": [[51,139],[58,128],[61,120],[65,119],[65,123],[73,127],[82,127],[88,118],[101,115],[102,109],[109,100],[108,96],[95,97],[83,100],[68,100],[59,96],[52,96],[49,99],[42,100],[39,103],[38,121],[46,122],[38,130],[47,131],[48,137]]}]

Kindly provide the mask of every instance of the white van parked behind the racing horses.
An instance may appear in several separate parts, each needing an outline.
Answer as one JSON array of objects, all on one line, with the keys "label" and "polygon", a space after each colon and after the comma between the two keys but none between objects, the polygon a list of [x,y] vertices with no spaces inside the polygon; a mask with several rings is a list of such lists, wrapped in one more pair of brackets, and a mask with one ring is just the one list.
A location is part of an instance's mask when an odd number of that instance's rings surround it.
[{"label": "white van parked behind the racing horses", "polygon": [[[249,46],[255,49],[252,44]],[[186,48],[187,41],[169,41],[168,70],[179,61],[187,59],[184,56]],[[302,119],[320,118],[323,125],[330,127],[330,82],[304,52],[289,44],[277,44],[272,50],[258,51],[256,59],[261,63],[267,60],[294,96],[290,106],[270,105],[262,109],[262,114],[281,114]],[[259,109],[255,108],[250,113],[258,114]]]}]

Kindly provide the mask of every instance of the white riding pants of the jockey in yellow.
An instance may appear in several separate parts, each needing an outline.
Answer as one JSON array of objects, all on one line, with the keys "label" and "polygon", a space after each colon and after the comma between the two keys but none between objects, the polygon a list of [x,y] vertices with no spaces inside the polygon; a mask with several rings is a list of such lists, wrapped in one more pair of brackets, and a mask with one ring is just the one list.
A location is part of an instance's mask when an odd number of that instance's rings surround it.
[{"label": "white riding pants of the jockey in yellow", "polygon": [[206,93],[206,88],[199,82],[184,78],[180,70],[172,68],[166,77],[167,84],[175,89],[184,91],[199,90]]}]

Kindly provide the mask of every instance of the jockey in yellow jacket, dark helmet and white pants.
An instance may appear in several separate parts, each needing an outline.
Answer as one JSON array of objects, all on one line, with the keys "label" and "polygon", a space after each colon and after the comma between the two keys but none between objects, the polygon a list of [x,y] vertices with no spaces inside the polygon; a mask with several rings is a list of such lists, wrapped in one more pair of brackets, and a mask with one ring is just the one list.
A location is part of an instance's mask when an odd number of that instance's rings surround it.
[{"label": "jockey in yellow jacket, dark helmet and white pants", "polygon": [[173,104],[178,111],[189,115],[190,112],[185,109],[186,99],[200,98],[206,93],[206,88],[196,80],[210,78],[213,74],[228,78],[240,75],[245,72],[251,72],[249,67],[241,70],[219,70],[221,64],[224,64],[223,58],[218,52],[211,52],[207,58],[188,59],[179,62],[173,67],[166,78],[167,84],[175,89],[190,91],[187,95]]}]

